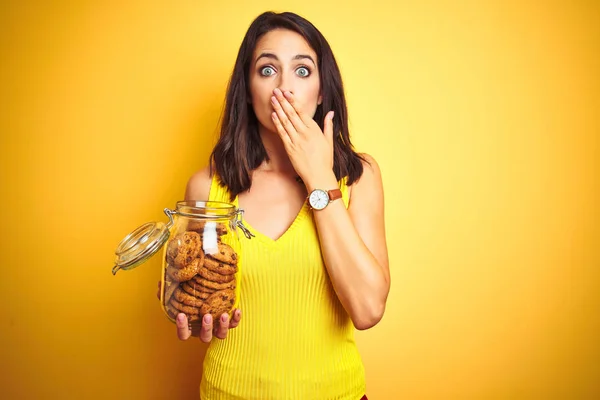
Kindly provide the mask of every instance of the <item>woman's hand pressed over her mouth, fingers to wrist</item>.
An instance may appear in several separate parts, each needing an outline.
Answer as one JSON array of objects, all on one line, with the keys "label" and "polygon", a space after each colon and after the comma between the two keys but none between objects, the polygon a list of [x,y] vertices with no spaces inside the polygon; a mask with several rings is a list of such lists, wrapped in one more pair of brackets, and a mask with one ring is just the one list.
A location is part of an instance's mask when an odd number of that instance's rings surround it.
[{"label": "woman's hand pressed over her mouth, fingers to wrist", "polygon": [[271,118],[296,173],[305,183],[333,171],[333,111],[325,115],[323,131],[297,106],[294,95],[275,89]]}]

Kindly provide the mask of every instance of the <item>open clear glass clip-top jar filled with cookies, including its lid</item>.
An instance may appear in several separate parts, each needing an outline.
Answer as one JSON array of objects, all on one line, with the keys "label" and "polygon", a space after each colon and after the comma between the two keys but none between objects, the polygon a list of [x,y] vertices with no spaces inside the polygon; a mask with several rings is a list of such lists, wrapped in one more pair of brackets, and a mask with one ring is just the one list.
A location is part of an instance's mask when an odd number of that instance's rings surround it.
[{"label": "open clear glass clip-top jar filled with cookies, including its lid", "polygon": [[[169,222],[146,223],[118,245],[113,275],[130,270],[163,249],[160,302],[175,322],[182,312],[191,325],[205,314],[218,320],[237,307],[242,257],[238,228],[243,210],[217,201],[180,201],[175,211],[165,208]],[[231,315],[230,315],[231,316]]]}]

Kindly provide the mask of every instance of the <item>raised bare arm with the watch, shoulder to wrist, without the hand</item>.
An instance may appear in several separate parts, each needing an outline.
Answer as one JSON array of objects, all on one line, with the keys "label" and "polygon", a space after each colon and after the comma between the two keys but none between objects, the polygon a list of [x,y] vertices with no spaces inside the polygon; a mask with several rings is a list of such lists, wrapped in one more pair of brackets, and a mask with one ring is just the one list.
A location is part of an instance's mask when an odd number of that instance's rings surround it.
[{"label": "raised bare arm with the watch, shoulder to wrist, without the hand", "polygon": [[[364,163],[363,176],[352,186],[348,209],[338,200],[313,211],[333,288],[360,330],[381,320],[390,290],[381,173],[375,160],[365,157],[370,165]],[[307,182],[309,192],[335,187],[333,173]]]}]

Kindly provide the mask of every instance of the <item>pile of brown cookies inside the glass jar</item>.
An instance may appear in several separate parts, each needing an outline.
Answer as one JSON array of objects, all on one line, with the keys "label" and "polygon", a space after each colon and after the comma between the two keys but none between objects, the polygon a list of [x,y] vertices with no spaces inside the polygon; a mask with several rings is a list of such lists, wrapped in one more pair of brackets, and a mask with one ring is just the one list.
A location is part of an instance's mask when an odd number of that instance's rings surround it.
[{"label": "pile of brown cookies inside the glass jar", "polygon": [[238,270],[237,253],[221,241],[225,227],[194,222],[167,243],[163,297],[171,318],[182,312],[190,322],[231,311]]}]

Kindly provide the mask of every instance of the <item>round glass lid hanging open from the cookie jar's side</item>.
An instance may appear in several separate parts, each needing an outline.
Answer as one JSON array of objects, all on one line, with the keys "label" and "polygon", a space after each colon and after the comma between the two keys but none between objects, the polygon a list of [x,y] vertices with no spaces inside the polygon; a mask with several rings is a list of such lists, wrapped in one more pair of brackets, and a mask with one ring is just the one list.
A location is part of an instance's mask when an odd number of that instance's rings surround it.
[{"label": "round glass lid hanging open from the cookie jar's side", "polygon": [[169,239],[170,226],[162,222],[148,222],[127,235],[115,251],[117,257],[113,275],[119,269],[133,269],[156,254]]}]

